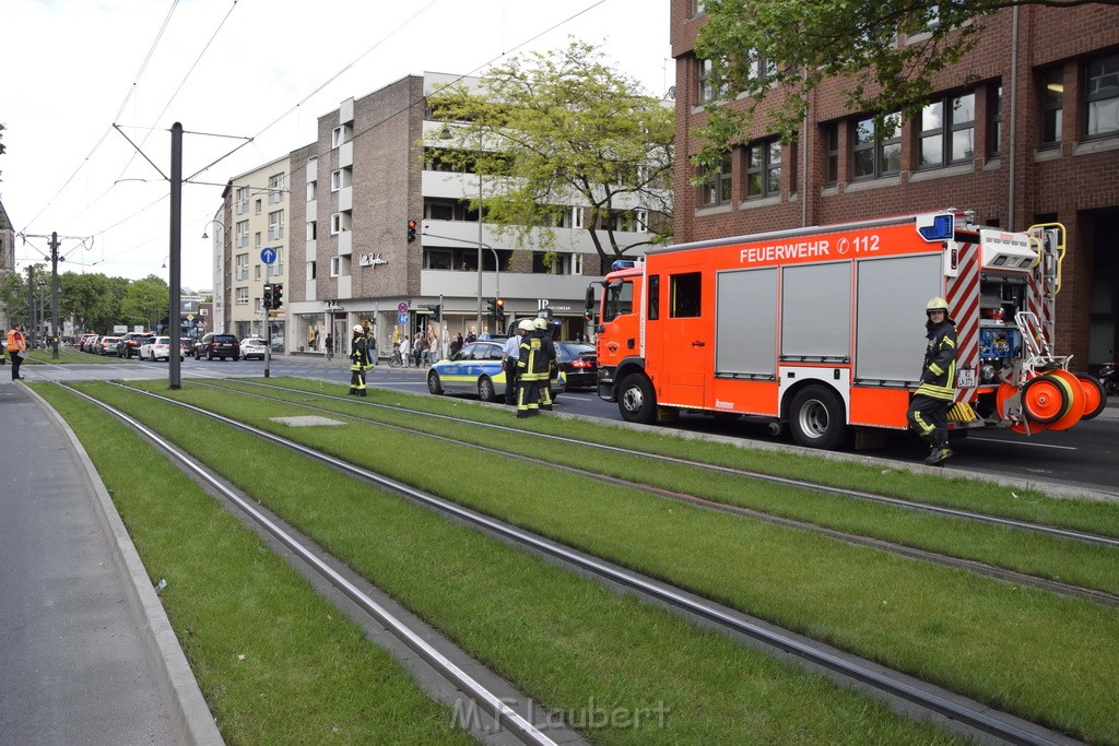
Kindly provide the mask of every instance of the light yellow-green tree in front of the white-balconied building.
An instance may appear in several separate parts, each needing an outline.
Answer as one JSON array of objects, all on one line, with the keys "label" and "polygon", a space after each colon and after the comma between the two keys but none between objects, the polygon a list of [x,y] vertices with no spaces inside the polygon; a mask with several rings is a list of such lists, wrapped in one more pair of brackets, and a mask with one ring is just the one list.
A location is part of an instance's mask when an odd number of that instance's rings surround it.
[{"label": "light yellow-green tree in front of the white-balconied building", "polygon": [[[671,232],[673,111],[641,93],[591,45],[515,57],[485,74],[477,91],[429,96],[433,119],[454,122],[429,135],[426,157],[480,173],[488,225],[554,259],[564,214],[585,210],[603,265]],[[492,178],[486,178],[492,177]],[[479,209],[472,198],[471,209]],[[652,242],[623,244],[636,209],[649,211]],[[577,225],[577,224],[576,224]]]}]

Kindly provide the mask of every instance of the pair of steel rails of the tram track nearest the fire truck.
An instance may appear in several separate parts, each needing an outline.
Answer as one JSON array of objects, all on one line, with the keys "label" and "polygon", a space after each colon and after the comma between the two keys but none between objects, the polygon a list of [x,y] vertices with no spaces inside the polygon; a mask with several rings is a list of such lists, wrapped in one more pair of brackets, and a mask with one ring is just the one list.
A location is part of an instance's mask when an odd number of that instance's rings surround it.
[{"label": "pair of steel rails of the tram track nearest the fire truck", "polygon": [[[201,386],[210,386],[214,389],[224,390],[224,391],[233,390],[233,391],[241,393],[241,394],[243,394],[245,396],[252,396],[252,397],[255,397],[255,398],[260,398],[262,400],[273,402],[273,403],[278,403],[278,404],[284,404],[284,405],[295,404],[295,403],[293,403],[293,402],[291,402],[289,399],[283,398],[283,397],[264,396],[262,394],[254,394],[254,393],[251,393],[251,391],[243,391],[239,388],[229,387],[229,386],[225,386],[225,385],[211,385],[211,384],[206,384],[206,383],[201,383],[199,385],[201,385]],[[258,388],[264,388],[264,389],[274,389],[274,390],[280,390],[280,391],[289,391],[289,393],[299,394],[299,395],[309,395],[309,396],[313,396],[313,397],[317,397],[317,398],[318,397],[322,397],[322,398],[331,399],[331,400],[336,400],[336,402],[340,400],[339,397],[335,397],[335,396],[331,396],[331,395],[313,394],[313,393],[302,391],[302,390],[299,390],[299,389],[288,389],[288,388],[284,388],[282,386],[272,386],[272,385],[266,385],[266,384],[261,385],[261,384],[256,384],[256,383],[252,383],[252,381],[238,381],[238,385],[242,385],[242,386],[247,385],[247,386],[251,386],[251,387],[254,387],[254,388],[258,387]],[[384,404],[374,404],[374,403],[361,402],[360,405],[363,406],[363,408],[364,407],[374,407],[374,408],[393,409],[393,410],[397,410],[397,412],[403,410],[402,407],[394,407],[392,405],[384,405]],[[469,442],[469,441],[462,441],[462,440],[457,440],[457,438],[452,438],[452,437],[446,437],[446,436],[439,435],[439,434],[435,434],[435,433],[426,432],[426,431],[424,431],[422,428],[419,428],[419,427],[408,427],[408,426],[401,425],[401,424],[385,423],[385,422],[382,422],[382,421],[378,421],[378,419],[372,419],[372,418],[360,417],[360,416],[355,415],[352,413],[338,412],[337,409],[332,409],[332,408],[329,408],[329,407],[314,407],[314,406],[305,404],[305,403],[299,403],[298,406],[304,407],[304,408],[307,408],[309,410],[312,410],[312,412],[319,412],[321,414],[329,415],[329,416],[345,417],[345,418],[348,418],[348,419],[355,419],[355,421],[359,421],[359,422],[374,423],[374,424],[376,424],[378,426],[391,428],[391,429],[394,429],[394,431],[401,432],[401,433],[421,435],[421,436],[424,436],[424,437],[429,437],[431,440],[435,440],[435,441],[440,441],[440,442],[445,442],[445,443],[452,443],[452,444],[455,444],[455,445],[464,445],[464,446],[468,446],[468,447],[476,448],[476,450],[478,450],[481,453],[486,453],[486,454],[490,454],[490,455],[495,455],[495,456],[500,456],[500,457],[511,459],[511,460],[518,460],[518,461],[526,461],[526,462],[532,462],[532,463],[538,463],[537,460],[533,459],[532,456],[525,456],[525,455],[521,455],[521,454],[518,454],[518,453],[511,453],[511,452],[509,452],[507,450],[496,448],[496,447],[487,446],[487,445],[480,444],[480,443],[473,443],[473,442]],[[436,418],[436,419],[451,419],[451,421],[453,421],[453,418],[446,417],[444,415],[430,414],[430,413],[416,413],[414,410],[408,410],[408,412],[410,412],[410,414],[414,414],[414,415],[417,415],[417,416]],[[493,425],[493,424],[489,424],[489,423],[476,423],[476,424],[478,424],[479,426],[485,427],[485,428],[497,428],[497,429],[501,429],[501,431],[516,432],[518,434],[518,436],[519,435],[532,436],[532,437],[537,437],[537,438],[542,438],[542,440],[546,440],[546,441],[561,442],[561,443],[564,443],[564,444],[567,444],[567,445],[583,445],[583,446],[604,447],[604,448],[611,448],[612,447],[612,446],[601,446],[600,444],[592,443],[592,442],[589,442],[589,441],[581,441],[581,440],[572,438],[572,437],[561,437],[561,436],[556,436],[556,435],[551,435],[551,434],[545,434],[545,433],[536,433],[536,432],[530,432],[530,431],[521,431],[521,429],[518,429],[518,428],[506,427],[506,426],[502,426],[502,425]],[[617,448],[617,450],[618,451],[622,451],[621,448]],[[735,469],[727,468],[727,466],[703,464],[703,463],[695,462],[695,461],[688,461],[688,460],[677,459],[677,457],[673,457],[673,456],[662,456],[662,455],[659,455],[659,454],[628,454],[628,455],[630,455],[630,456],[640,455],[640,456],[648,457],[648,459],[651,459],[651,460],[667,460],[667,461],[673,462],[673,463],[684,463],[684,464],[686,464],[688,466],[696,468],[696,469],[699,469],[699,470],[711,471],[711,472],[730,473],[730,474],[733,474],[733,475],[742,475],[742,476],[746,476],[746,478],[754,478],[756,475],[755,472],[744,472],[742,470],[735,470]],[[605,483],[614,484],[614,485],[618,485],[618,487],[624,487],[624,488],[632,488],[632,489],[641,490],[641,491],[645,491],[647,493],[656,494],[656,495],[659,495],[659,497],[662,497],[662,498],[667,498],[667,499],[671,499],[671,500],[677,500],[677,501],[680,501],[680,502],[684,502],[684,503],[687,503],[687,504],[692,504],[692,506],[696,506],[696,507],[699,507],[699,508],[704,508],[704,509],[717,510],[717,511],[727,512],[727,513],[731,513],[731,514],[741,516],[741,517],[744,517],[744,518],[750,518],[750,519],[755,519],[755,520],[763,520],[763,521],[767,521],[767,522],[770,522],[770,523],[774,523],[774,525],[779,525],[779,526],[784,526],[784,527],[794,528],[794,529],[799,529],[799,530],[810,531],[810,532],[814,532],[814,533],[818,533],[820,536],[826,536],[826,537],[829,537],[829,538],[833,538],[833,539],[837,539],[837,540],[841,540],[841,541],[846,541],[846,542],[849,542],[849,544],[873,547],[873,548],[876,548],[876,549],[880,549],[880,550],[883,550],[883,551],[888,551],[888,553],[892,553],[892,554],[895,554],[895,555],[899,555],[899,556],[904,556],[904,557],[909,557],[909,558],[913,558],[913,559],[920,559],[920,560],[924,560],[924,561],[930,561],[930,563],[934,563],[934,564],[938,564],[938,565],[941,565],[941,566],[946,566],[946,567],[952,567],[952,568],[957,568],[957,569],[963,569],[963,570],[972,572],[972,573],[976,573],[976,574],[979,574],[979,575],[984,575],[984,576],[987,576],[987,577],[996,578],[996,579],[999,579],[999,580],[1003,580],[1003,582],[1013,583],[1013,584],[1016,584],[1016,585],[1035,587],[1035,588],[1040,588],[1040,589],[1047,591],[1047,592],[1051,592],[1051,593],[1056,593],[1056,594],[1068,595],[1068,596],[1083,597],[1083,598],[1089,598],[1089,599],[1092,599],[1092,601],[1096,601],[1096,602],[1099,602],[1099,603],[1103,603],[1103,604],[1108,604],[1108,605],[1112,605],[1112,606],[1119,606],[1119,595],[1117,595],[1115,593],[1109,593],[1107,591],[1102,591],[1102,589],[1099,589],[1099,588],[1085,587],[1085,586],[1078,585],[1078,584],[1070,583],[1070,582],[1064,582],[1064,580],[1049,578],[1049,577],[1042,577],[1042,576],[1034,575],[1034,574],[1028,574],[1028,573],[1022,573],[1022,572],[1014,570],[1012,568],[1000,567],[1000,566],[994,565],[991,563],[979,561],[979,560],[975,560],[975,559],[968,559],[968,558],[965,558],[965,557],[957,557],[957,556],[952,556],[952,555],[948,555],[948,554],[943,554],[943,553],[939,553],[939,551],[932,551],[932,550],[923,549],[923,548],[920,548],[920,547],[909,546],[909,545],[905,545],[905,544],[902,544],[902,542],[899,542],[899,541],[892,541],[892,540],[882,539],[882,538],[877,538],[877,537],[865,536],[865,535],[856,533],[856,532],[853,532],[853,531],[838,530],[838,529],[834,529],[834,528],[830,528],[830,527],[827,527],[827,526],[821,526],[819,523],[815,523],[815,522],[811,522],[811,521],[800,520],[800,519],[789,518],[789,517],[783,517],[783,516],[778,516],[778,514],[773,514],[773,513],[765,512],[765,511],[758,510],[758,509],[753,509],[753,508],[746,508],[746,507],[742,507],[742,506],[728,504],[728,503],[725,503],[725,502],[720,502],[717,500],[712,500],[712,499],[705,498],[703,495],[699,495],[699,494],[696,494],[696,493],[693,493],[693,492],[688,492],[686,490],[665,489],[665,488],[656,487],[656,485],[648,484],[648,483],[645,483],[645,482],[638,482],[638,481],[633,481],[633,480],[622,479],[622,478],[619,478],[619,476],[612,476],[612,475],[608,475],[608,474],[602,474],[600,472],[595,472],[595,471],[591,471],[591,470],[586,470],[586,469],[581,469],[581,468],[577,468],[577,466],[572,466],[570,464],[556,464],[556,463],[552,463],[552,464],[548,464],[548,465],[551,468],[553,468],[553,469],[556,469],[556,470],[560,470],[560,471],[564,471],[566,473],[579,474],[579,475],[587,478],[587,479],[592,479],[592,480],[596,480],[596,481],[600,481],[600,482],[605,482]],[[765,481],[769,481],[769,475],[762,475],[762,476],[765,476],[767,478]],[[808,482],[808,481],[805,481],[805,480],[786,480],[783,478],[778,478],[778,479],[780,479],[780,481],[782,483],[787,484],[787,485],[789,483],[792,483],[792,485],[794,485],[794,487],[801,487],[803,489],[820,489],[820,491],[824,491],[824,492],[826,492],[828,494],[838,495],[838,497],[855,497],[857,499],[863,499],[863,498],[869,497],[869,498],[873,498],[872,501],[874,501],[874,502],[881,502],[881,503],[890,504],[890,506],[895,507],[895,508],[896,507],[909,508],[909,507],[913,507],[913,506],[920,507],[922,504],[922,503],[915,503],[913,501],[906,501],[906,500],[901,500],[901,499],[896,499],[896,498],[890,498],[887,495],[872,495],[871,493],[867,493],[867,492],[859,492],[859,491],[853,491],[853,490],[844,490],[841,488],[834,488],[834,487],[828,487],[828,485],[819,485],[817,483]],[[953,510],[951,513],[948,513],[948,514],[950,514],[950,517],[953,518],[953,519],[958,519],[958,520],[979,520],[979,522],[988,522],[988,521],[985,521],[982,519],[990,518],[989,516],[986,516],[984,513],[976,513],[974,511],[962,511],[962,510]],[[978,517],[978,518],[974,518],[974,517]],[[1026,521],[1014,521],[1014,526],[1013,527],[1017,528],[1017,529],[1023,529],[1023,528],[1027,528],[1028,527],[1029,530],[1033,530],[1033,531],[1035,531],[1037,533],[1047,535],[1047,536],[1055,536],[1057,538],[1065,539],[1065,540],[1070,540],[1071,539],[1071,540],[1084,541],[1087,544],[1100,545],[1100,546],[1104,546],[1104,547],[1112,546],[1111,537],[1107,537],[1107,536],[1090,535],[1090,533],[1085,533],[1085,532],[1082,532],[1082,531],[1071,531],[1071,532],[1069,532],[1069,531],[1066,531],[1064,529],[1055,529],[1055,531],[1049,531],[1049,530],[1045,530],[1045,529],[1050,529],[1050,528],[1053,528],[1053,527],[1046,527],[1046,526],[1041,526],[1041,525],[1036,525],[1036,523],[1029,523],[1029,522],[1026,522]]]}]

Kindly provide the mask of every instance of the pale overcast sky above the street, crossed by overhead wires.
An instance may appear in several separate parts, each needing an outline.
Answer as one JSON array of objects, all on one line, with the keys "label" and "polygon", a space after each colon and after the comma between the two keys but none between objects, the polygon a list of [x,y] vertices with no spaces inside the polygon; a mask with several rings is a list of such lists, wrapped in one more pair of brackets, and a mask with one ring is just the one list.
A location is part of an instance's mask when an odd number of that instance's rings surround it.
[{"label": "pale overcast sky above the street, crossed by overhead wires", "polygon": [[[0,0],[0,200],[17,271],[168,277],[170,130],[184,136],[181,286],[214,286],[228,179],[319,116],[424,72],[594,44],[646,93],[675,82],[669,0]],[[150,162],[149,162],[150,161]],[[290,226],[289,226],[290,227]],[[292,230],[291,235],[301,235]]]}]

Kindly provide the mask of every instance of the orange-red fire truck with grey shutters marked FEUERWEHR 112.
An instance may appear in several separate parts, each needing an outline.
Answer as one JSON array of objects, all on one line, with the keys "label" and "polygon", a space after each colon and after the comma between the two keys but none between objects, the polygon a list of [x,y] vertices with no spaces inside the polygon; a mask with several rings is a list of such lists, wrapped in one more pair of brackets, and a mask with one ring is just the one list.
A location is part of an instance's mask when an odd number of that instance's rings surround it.
[{"label": "orange-red fire truck with grey shutters marked FEUERWEHR 112", "polygon": [[598,394],[629,422],[753,415],[803,446],[872,447],[906,428],[941,296],[958,333],[949,429],[1066,429],[1107,395],[1054,351],[1064,240],[1060,224],[1010,233],[950,208],[619,262],[586,294]]}]

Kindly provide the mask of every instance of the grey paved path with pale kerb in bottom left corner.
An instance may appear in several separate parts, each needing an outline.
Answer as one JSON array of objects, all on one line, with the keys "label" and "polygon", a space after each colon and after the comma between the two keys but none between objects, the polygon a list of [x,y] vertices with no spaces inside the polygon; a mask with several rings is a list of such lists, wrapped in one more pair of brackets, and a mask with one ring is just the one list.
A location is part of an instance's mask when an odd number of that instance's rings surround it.
[{"label": "grey paved path with pale kerb in bottom left corner", "polygon": [[0,421],[0,740],[223,743],[93,464],[7,368]]}]

